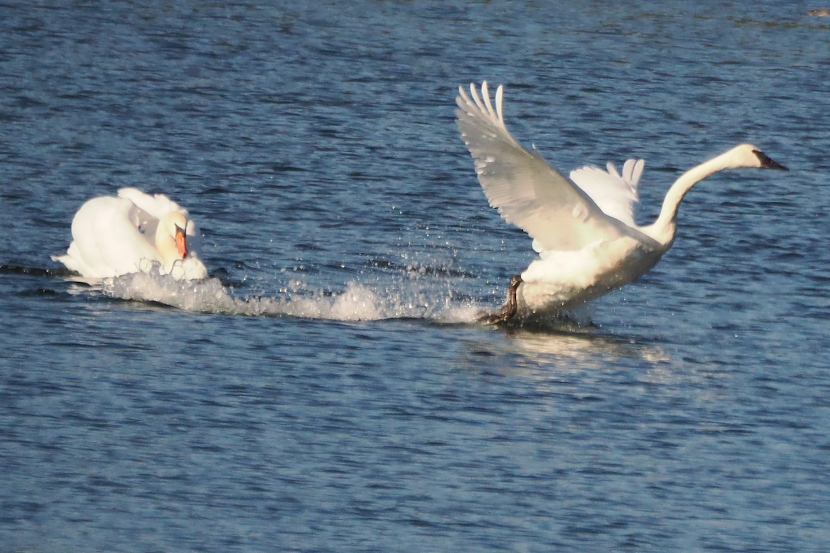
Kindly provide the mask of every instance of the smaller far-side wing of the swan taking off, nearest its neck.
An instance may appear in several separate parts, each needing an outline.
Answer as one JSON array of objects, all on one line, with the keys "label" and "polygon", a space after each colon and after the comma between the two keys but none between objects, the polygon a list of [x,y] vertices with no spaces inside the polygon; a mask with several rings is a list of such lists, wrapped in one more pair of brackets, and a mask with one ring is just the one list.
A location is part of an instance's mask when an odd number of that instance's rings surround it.
[{"label": "smaller far-side wing of the swan taking off, nearest its neck", "polygon": [[628,159],[623,163],[622,174],[608,162],[608,171],[586,165],[570,172],[570,179],[583,190],[599,209],[608,216],[623,221],[627,226],[637,226],[634,221],[634,206],[639,201],[637,184],[642,177],[646,162],[642,159]]}]

